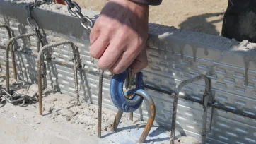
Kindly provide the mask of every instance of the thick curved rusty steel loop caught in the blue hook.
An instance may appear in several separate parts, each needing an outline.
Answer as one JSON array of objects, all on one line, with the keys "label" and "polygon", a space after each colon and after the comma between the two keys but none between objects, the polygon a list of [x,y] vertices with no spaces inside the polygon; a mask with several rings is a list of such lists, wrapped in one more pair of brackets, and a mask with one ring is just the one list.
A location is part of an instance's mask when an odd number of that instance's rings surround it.
[{"label": "thick curved rusty steel loop caught in the blue hook", "polygon": [[[146,102],[146,106],[148,107],[148,109],[150,109],[149,120],[146,124],[146,127],[144,128],[143,133],[141,134],[141,137],[139,138],[139,143],[144,143],[145,140],[146,140],[146,137],[149,135],[149,131],[151,130],[151,127],[153,125],[153,121],[155,120],[156,107],[155,107],[155,104],[153,102],[153,99],[151,98],[149,93],[146,92],[145,90],[135,88],[135,89],[129,90],[127,92],[126,96],[129,97],[130,95],[139,95],[141,97],[144,97],[145,102]],[[117,131],[117,126],[120,123],[120,119],[122,117],[122,114],[123,114],[122,111],[117,112],[117,115],[115,116],[115,121],[114,121],[110,131]]]}]

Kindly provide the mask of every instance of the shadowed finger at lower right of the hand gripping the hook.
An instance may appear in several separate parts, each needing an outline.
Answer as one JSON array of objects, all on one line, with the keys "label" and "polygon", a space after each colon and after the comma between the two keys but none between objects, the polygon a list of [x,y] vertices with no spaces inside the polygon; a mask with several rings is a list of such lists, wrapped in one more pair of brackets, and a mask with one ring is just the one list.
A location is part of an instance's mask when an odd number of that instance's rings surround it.
[{"label": "shadowed finger at lower right of the hand gripping the hook", "polygon": [[146,48],[144,48],[136,57],[136,59],[132,62],[132,76],[134,76],[135,73],[141,71],[143,68],[146,68],[147,65],[148,59],[146,56]]}]

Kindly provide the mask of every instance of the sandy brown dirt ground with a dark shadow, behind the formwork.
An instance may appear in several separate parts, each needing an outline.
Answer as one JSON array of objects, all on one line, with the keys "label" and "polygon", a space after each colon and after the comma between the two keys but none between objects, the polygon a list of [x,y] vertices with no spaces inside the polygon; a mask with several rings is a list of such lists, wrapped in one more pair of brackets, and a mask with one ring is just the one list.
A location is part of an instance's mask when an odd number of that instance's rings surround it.
[{"label": "sandy brown dirt ground with a dark shadow, behind the formwork", "polygon": [[[92,11],[100,11],[107,0],[75,0]],[[163,0],[150,6],[149,22],[185,30],[219,35],[228,0]]]}]

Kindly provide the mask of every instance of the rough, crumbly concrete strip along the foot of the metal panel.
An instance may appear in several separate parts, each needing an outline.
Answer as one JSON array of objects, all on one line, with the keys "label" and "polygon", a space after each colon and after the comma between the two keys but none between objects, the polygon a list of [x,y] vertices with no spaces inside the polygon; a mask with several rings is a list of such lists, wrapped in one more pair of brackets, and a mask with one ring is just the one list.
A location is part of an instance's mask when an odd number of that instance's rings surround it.
[{"label": "rough, crumbly concrete strip along the foot of the metal panel", "polygon": [[[5,73],[0,73],[0,85],[5,88],[6,78]],[[25,83],[23,81],[16,81],[13,78],[10,80],[11,89],[24,95],[33,95],[37,92],[37,85]],[[146,126],[146,121],[139,121],[134,118],[134,121],[129,121],[127,115],[124,115],[120,121],[120,125],[117,128],[116,133],[110,132],[112,122],[115,119],[115,112],[110,109],[103,108],[102,115],[102,136],[97,137],[97,124],[98,124],[98,106],[95,104],[88,104],[81,102],[77,105],[74,97],[65,95],[52,90],[45,90],[43,93],[43,114],[44,118],[51,121],[51,127],[47,130],[47,133],[54,133],[54,129],[62,128],[62,136],[66,133],[66,125],[70,127],[78,128],[78,131],[85,131],[88,137],[93,136],[93,140],[97,140],[99,143],[136,143],[139,140],[139,136]],[[4,98],[3,98],[4,100]],[[40,119],[42,116],[38,114],[38,103],[28,104],[26,107],[14,106],[7,103],[6,105],[0,104],[0,116],[7,116],[8,119],[16,118],[16,121],[23,121],[26,124],[30,124],[33,128],[40,127],[40,124],[44,122]],[[21,122],[21,123],[23,123]],[[54,124],[55,123],[55,124]],[[57,126],[58,125],[58,126]],[[2,127],[4,128],[4,127]],[[69,131],[70,133],[70,131]],[[176,144],[199,144],[197,140],[190,137],[182,137],[178,135]],[[83,136],[86,137],[86,136]],[[151,128],[151,132],[146,139],[146,143],[170,143],[170,131],[165,128],[154,125]],[[5,141],[8,143],[8,141]],[[95,142],[96,143],[96,142]],[[47,144],[47,143],[46,143]]]}]

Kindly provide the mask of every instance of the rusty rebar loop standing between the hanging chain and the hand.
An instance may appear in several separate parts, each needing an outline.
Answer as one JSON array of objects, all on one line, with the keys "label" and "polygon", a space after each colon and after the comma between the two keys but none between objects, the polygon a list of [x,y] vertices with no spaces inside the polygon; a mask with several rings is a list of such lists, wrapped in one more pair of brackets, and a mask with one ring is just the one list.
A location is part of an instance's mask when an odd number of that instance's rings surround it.
[{"label": "rusty rebar loop standing between the hanging chain and the hand", "polygon": [[[57,47],[62,44],[70,44],[71,48],[73,50],[73,63],[74,63],[74,78],[75,78],[75,93],[76,93],[76,101],[79,102],[79,94],[78,94],[78,77],[77,77],[77,58],[76,58],[76,47],[73,42],[71,41],[64,41],[64,42],[57,42],[54,44],[48,44],[42,47],[40,49],[40,52],[38,53],[37,56],[37,71],[38,71],[38,99],[39,99],[39,112],[40,115],[42,116],[42,63],[44,63],[44,52],[46,49],[49,49],[51,47]],[[45,70],[46,71],[46,70]]]}]

